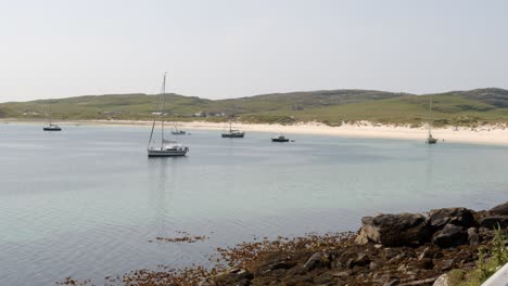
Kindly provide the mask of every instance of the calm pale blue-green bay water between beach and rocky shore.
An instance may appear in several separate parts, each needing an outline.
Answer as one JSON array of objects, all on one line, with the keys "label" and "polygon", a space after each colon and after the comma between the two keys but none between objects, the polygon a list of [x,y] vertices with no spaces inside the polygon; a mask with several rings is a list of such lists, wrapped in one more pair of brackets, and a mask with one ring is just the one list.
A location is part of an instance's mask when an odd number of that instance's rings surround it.
[{"label": "calm pale blue-green bay water between beach and rocky shore", "polygon": [[[272,134],[179,136],[188,157],[147,158],[149,129],[0,126],[0,285],[53,285],[205,263],[218,246],[357,230],[361,216],[508,197],[508,148]],[[194,244],[152,242],[178,232]]]}]

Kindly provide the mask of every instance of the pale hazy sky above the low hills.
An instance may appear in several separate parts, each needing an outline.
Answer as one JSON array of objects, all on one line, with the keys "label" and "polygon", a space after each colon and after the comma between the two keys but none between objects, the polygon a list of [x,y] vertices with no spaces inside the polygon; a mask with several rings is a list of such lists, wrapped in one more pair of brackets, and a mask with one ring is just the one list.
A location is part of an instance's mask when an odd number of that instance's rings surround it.
[{"label": "pale hazy sky above the low hills", "polygon": [[508,1],[0,0],[0,102],[508,88]]}]

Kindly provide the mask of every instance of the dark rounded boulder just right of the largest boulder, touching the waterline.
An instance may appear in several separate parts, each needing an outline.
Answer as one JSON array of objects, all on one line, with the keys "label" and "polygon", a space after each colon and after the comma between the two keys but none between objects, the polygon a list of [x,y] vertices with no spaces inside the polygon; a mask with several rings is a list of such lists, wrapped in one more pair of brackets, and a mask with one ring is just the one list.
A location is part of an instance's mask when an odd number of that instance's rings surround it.
[{"label": "dark rounded boulder just right of the largest boulder, touching the waterline", "polygon": [[452,223],[463,227],[475,224],[473,212],[467,208],[433,209],[429,212],[430,225],[434,231]]}]

